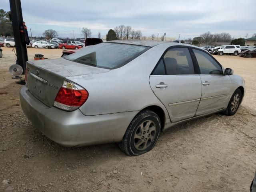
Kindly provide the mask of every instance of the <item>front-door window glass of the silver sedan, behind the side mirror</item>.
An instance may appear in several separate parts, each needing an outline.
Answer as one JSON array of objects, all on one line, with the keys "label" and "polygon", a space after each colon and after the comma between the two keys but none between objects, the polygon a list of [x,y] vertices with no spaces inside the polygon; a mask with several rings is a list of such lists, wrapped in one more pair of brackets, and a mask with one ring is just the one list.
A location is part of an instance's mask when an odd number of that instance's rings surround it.
[{"label": "front-door window glass of the silver sedan, behind the side mirror", "polygon": [[212,56],[197,49],[193,49],[193,52],[196,55],[201,74],[223,74],[221,66],[212,58]]}]

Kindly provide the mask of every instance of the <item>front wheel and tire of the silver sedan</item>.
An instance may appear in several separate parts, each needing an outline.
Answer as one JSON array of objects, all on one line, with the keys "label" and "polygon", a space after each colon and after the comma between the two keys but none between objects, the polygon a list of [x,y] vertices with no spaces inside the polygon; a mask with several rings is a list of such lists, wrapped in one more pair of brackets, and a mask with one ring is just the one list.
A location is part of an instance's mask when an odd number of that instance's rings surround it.
[{"label": "front wheel and tire of the silver sedan", "polygon": [[240,106],[241,100],[242,100],[242,92],[240,89],[236,89],[235,92],[233,93],[232,97],[230,98],[228,107],[224,111],[224,114],[227,116],[236,114],[236,112]]}]

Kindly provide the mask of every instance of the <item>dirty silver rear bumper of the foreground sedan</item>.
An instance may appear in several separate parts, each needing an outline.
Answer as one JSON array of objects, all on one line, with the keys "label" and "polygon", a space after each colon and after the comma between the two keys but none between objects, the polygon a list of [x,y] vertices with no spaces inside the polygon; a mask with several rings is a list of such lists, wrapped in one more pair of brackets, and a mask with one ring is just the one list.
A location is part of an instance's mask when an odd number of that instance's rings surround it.
[{"label": "dirty silver rear bumper of the foreground sedan", "polygon": [[85,116],[79,109],[63,111],[40,102],[27,86],[20,89],[20,104],[35,128],[54,142],[68,147],[119,142],[137,114],[134,111]]}]

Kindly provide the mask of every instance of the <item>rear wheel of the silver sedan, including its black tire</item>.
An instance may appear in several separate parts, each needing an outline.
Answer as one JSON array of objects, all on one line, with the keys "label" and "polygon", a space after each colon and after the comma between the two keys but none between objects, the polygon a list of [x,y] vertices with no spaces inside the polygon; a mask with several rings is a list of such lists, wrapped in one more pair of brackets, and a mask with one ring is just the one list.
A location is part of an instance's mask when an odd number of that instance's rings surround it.
[{"label": "rear wheel of the silver sedan, including its black tire", "polygon": [[155,146],[161,131],[158,115],[150,110],[139,112],[130,122],[124,138],[118,143],[128,156],[144,154]]}]

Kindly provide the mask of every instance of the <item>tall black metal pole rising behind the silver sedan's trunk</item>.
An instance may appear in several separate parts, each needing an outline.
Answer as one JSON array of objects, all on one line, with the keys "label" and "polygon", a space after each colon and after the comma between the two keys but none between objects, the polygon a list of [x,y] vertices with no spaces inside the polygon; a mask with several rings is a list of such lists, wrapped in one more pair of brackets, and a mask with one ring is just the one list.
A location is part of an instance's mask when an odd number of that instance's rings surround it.
[{"label": "tall black metal pole rising behind the silver sedan's trunk", "polygon": [[22,66],[22,74],[25,74],[26,61],[28,61],[28,52],[26,44],[21,42],[20,37],[20,25],[22,24],[23,20],[20,0],[10,0],[10,9],[15,49],[17,54],[17,64]]}]

